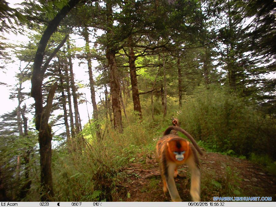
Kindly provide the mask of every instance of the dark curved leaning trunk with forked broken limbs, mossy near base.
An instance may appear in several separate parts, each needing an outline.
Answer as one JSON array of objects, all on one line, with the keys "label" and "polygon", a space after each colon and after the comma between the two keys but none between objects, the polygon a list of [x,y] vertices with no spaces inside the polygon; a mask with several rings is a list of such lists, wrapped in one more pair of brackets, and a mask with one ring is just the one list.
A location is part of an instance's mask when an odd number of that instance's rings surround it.
[{"label": "dark curved leaning trunk with forked broken limbs, mossy near base", "polygon": [[42,97],[42,82],[44,79],[44,73],[50,63],[51,59],[56,55],[59,49],[63,46],[68,36],[66,36],[59,46],[52,52],[52,54],[45,61],[42,66],[45,49],[48,40],[52,34],[56,31],[60,21],[67,15],[67,13],[79,3],[80,0],[70,0],[48,23],[43,35],[41,36],[36,55],[33,63],[33,73],[31,77],[31,96],[35,100],[35,125],[39,130],[38,141],[40,147],[40,185],[42,189],[41,201],[48,201],[54,197],[53,185],[52,185],[52,171],[51,171],[51,156],[52,156],[52,134],[51,126],[48,125],[48,119],[51,113],[52,101],[54,98],[57,84],[55,83],[50,90],[47,104],[43,107]]}]

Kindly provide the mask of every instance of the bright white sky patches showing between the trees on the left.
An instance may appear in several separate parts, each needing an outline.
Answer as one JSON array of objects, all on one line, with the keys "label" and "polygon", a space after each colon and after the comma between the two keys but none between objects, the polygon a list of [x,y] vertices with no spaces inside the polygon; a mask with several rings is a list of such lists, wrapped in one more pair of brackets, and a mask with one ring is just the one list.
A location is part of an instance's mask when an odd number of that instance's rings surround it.
[{"label": "bright white sky patches showing between the trees on the left", "polygon": [[[14,5],[14,4],[21,3],[22,0],[7,0],[7,2],[10,3],[9,4],[10,7],[15,8],[15,7],[18,7],[18,5]],[[9,33],[9,34],[4,33],[3,36],[5,36],[8,39],[8,42],[13,43],[13,44],[20,44],[20,43],[29,41],[27,36],[20,35],[20,34],[15,35],[13,33]],[[90,38],[91,38],[91,41],[94,41],[92,39],[92,36]],[[78,46],[78,47],[83,47],[85,45],[85,41],[80,36],[72,36],[71,35],[70,39],[74,39],[76,46]],[[0,71],[0,82],[4,82],[8,85],[8,86],[0,85],[0,91],[1,91],[1,97],[2,97],[2,101],[0,103],[0,115],[13,111],[18,105],[17,99],[14,99],[14,100],[9,99],[10,90],[12,88],[15,88],[15,84],[17,83],[15,75],[17,72],[19,72],[18,68],[19,68],[19,64],[20,64],[20,62],[17,61],[16,58],[13,57],[13,60],[15,61],[14,63],[6,64],[5,71]],[[78,59],[73,60],[73,71],[75,74],[75,82],[79,81],[82,84],[88,84],[89,76],[88,76],[88,72],[87,72],[88,71],[87,64],[81,64],[79,66],[79,62],[80,61]],[[92,67],[96,67],[97,65],[98,65],[97,61],[93,61]],[[23,67],[21,67],[21,68],[23,68]],[[94,78],[95,78],[95,76],[94,76]],[[30,81],[24,82],[23,87],[25,87],[25,89],[23,91],[29,92],[30,87],[31,87]],[[89,88],[82,88],[79,90],[79,92],[85,93],[87,101],[91,103],[91,98],[90,98],[91,95],[90,95]],[[96,93],[96,101],[97,102],[99,101],[97,93]],[[28,100],[25,101],[25,103],[28,107],[29,104],[34,103],[34,100],[33,100],[33,98],[29,98]],[[92,113],[93,113],[93,108],[92,108],[92,104],[90,104],[90,103],[88,103],[88,110],[89,110],[89,115],[91,118]],[[24,103],[22,103],[22,105],[24,105]],[[68,107],[67,107],[67,109],[68,109]],[[59,112],[56,112],[56,113],[57,114],[63,113],[63,111],[60,110]],[[84,126],[84,124],[86,124],[88,122],[88,115],[87,115],[87,109],[86,109],[85,103],[79,105],[79,113],[80,113],[80,117],[82,119],[82,126]],[[33,116],[29,116],[28,118],[31,119],[31,118],[33,118]],[[64,130],[64,128],[61,130],[58,130],[58,129],[59,128],[53,128],[53,131],[56,132],[56,134],[58,134]]]}]

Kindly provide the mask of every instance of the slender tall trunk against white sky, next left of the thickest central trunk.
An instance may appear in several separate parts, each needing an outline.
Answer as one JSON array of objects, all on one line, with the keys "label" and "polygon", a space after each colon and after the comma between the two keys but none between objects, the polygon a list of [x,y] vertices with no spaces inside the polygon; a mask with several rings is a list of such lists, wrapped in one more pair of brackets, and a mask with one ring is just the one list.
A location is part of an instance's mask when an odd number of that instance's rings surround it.
[{"label": "slender tall trunk against white sky, next left of the thickest central trunk", "polygon": [[85,27],[83,29],[83,36],[85,39],[85,46],[86,46],[86,56],[87,56],[87,63],[88,63],[88,74],[89,74],[89,84],[90,84],[90,93],[91,93],[91,100],[92,100],[92,106],[93,106],[93,118],[94,122],[96,123],[96,136],[98,141],[102,140],[101,138],[101,131],[100,131],[100,124],[99,124],[99,118],[98,118],[98,108],[96,103],[96,96],[95,96],[95,87],[94,87],[94,79],[93,79],[93,73],[92,73],[92,65],[91,65],[91,59],[90,57],[90,49],[89,49],[89,33],[87,31],[87,28]]}]

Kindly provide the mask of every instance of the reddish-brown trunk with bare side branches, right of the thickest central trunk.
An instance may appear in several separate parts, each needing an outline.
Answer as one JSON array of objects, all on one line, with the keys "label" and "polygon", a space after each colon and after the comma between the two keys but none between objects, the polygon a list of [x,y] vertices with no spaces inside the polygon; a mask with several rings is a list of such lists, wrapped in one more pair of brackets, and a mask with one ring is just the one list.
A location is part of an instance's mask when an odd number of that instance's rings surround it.
[{"label": "reddish-brown trunk with bare side branches, right of the thickest central trunk", "polygon": [[139,98],[138,81],[135,67],[135,56],[132,47],[129,47],[128,63],[130,70],[130,82],[132,88],[133,110],[138,112],[140,119],[142,119],[142,110]]}]

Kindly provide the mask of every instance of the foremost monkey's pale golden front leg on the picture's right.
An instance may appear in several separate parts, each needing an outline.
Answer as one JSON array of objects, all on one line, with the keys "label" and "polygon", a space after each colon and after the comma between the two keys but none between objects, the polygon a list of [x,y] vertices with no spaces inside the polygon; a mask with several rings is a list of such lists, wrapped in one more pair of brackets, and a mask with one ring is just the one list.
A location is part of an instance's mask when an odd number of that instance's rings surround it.
[{"label": "foremost monkey's pale golden front leg on the picture's right", "polygon": [[[193,150],[193,154],[196,153]],[[200,175],[200,168],[199,162],[197,157],[195,158],[194,155],[191,154],[190,157],[186,160],[187,165],[191,171],[191,188],[190,194],[192,200],[195,202],[200,201],[200,182],[201,182],[201,175]],[[197,155],[195,155],[197,156]]]}]

